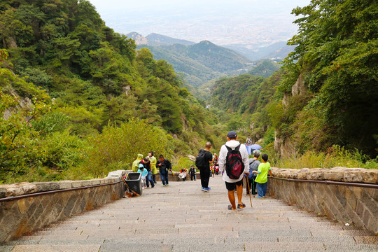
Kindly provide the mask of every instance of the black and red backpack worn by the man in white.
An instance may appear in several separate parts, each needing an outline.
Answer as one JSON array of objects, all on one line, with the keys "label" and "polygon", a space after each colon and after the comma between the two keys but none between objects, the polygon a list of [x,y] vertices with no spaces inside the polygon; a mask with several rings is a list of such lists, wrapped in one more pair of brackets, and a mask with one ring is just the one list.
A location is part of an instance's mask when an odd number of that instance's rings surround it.
[{"label": "black and red backpack worn by the man in white", "polygon": [[225,164],[226,174],[230,179],[239,179],[244,172],[244,162],[239,151],[240,144],[234,150],[228,146],[226,148],[228,150]]}]

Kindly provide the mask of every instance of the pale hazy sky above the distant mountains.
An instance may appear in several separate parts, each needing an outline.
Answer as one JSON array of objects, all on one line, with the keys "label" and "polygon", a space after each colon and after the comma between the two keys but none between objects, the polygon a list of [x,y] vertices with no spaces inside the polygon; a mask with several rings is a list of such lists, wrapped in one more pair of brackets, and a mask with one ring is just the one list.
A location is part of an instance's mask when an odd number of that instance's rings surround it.
[{"label": "pale hazy sky above the distant mountains", "polygon": [[291,38],[291,10],[310,0],[90,0],[108,27],[218,45],[262,45]]}]

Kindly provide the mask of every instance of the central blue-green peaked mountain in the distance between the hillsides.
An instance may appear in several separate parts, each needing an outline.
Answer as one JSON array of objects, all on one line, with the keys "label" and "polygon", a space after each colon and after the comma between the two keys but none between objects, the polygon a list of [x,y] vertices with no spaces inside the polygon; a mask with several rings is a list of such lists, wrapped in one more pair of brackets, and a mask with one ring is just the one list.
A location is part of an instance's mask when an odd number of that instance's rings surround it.
[{"label": "central blue-green peaked mountain in the distance between the hillsides", "polygon": [[165,59],[176,72],[184,73],[188,83],[199,86],[226,74],[243,73],[252,63],[230,49],[202,41],[195,45],[140,45],[147,47],[155,59]]}]

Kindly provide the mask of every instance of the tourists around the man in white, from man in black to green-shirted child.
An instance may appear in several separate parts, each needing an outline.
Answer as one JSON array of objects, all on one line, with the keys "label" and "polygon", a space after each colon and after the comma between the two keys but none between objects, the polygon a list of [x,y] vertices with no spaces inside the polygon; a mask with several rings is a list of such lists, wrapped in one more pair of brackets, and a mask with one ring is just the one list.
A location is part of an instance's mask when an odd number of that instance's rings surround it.
[{"label": "tourists around the man in white, from man in black to green-shirted child", "polygon": [[[272,171],[270,164],[267,162],[268,155],[261,156],[261,162],[258,161],[260,152],[253,153],[253,158],[248,158],[248,151],[244,144],[237,141],[237,133],[230,131],[227,134],[228,141],[221,147],[219,158],[216,154],[213,156],[210,153],[211,144],[207,143],[204,149],[201,149],[197,155],[196,166],[201,172],[201,186],[202,190],[208,192],[210,167],[209,165],[218,159],[219,169],[223,174],[223,181],[228,190],[228,199],[230,200],[229,210],[244,209],[246,204],[241,201],[243,195],[243,179],[247,179],[247,194],[255,193],[257,188],[258,197],[265,197],[267,192],[267,174],[270,176]],[[252,187],[252,188],[251,188]],[[235,200],[235,190],[237,192],[237,204]]]}]

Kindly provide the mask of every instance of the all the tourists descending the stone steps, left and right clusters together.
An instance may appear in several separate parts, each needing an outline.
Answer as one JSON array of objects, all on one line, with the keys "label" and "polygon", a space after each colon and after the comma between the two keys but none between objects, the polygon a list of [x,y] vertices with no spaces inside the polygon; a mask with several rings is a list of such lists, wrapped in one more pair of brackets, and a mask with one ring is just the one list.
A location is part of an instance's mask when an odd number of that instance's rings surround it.
[{"label": "all the tourists descending the stone steps, left and right clusters together", "polygon": [[[225,187],[228,190],[228,200],[230,200],[229,210],[244,209],[246,204],[241,201],[243,194],[243,179],[246,178],[246,193],[258,194],[258,197],[265,197],[267,192],[267,174],[272,175],[270,164],[267,162],[268,155],[262,154],[261,161],[260,152],[255,151],[253,158],[248,158],[248,151],[244,144],[237,141],[237,133],[230,131],[227,134],[227,142],[221,147],[219,157],[216,153],[211,153],[211,143],[207,142],[205,148],[201,149],[195,160],[196,167],[200,170],[201,190],[209,192],[210,175],[214,172],[221,172]],[[137,160],[132,164],[134,172],[141,173],[141,181],[143,188],[155,187],[155,175],[160,173],[160,179],[163,186],[168,186],[168,172],[172,172],[172,165],[163,155],[156,160],[153,151],[148,153],[146,158],[138,154]],[[212,169],[210,169],[210,165]],[[216,171],[217,169],[217,171]],[[190,169],[183,168],[179,174],[179,178],[186,181],[186,177],[190,174],[190,179],[196,180],[196,169],[194,165]],[[256,192],[257,190],[257,192]],[[237,193],[237,204],[235,199],[235,191]]]}]

